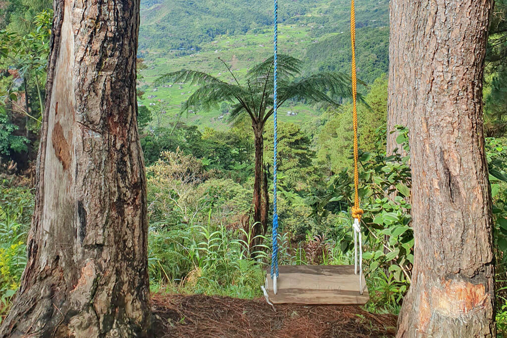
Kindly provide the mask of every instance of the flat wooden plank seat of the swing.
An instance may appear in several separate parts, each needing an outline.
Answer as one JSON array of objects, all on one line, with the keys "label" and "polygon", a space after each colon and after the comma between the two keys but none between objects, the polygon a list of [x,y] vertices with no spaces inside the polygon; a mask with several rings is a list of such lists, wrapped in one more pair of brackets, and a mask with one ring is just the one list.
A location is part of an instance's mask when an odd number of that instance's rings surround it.
[{"label": "flat wooden plank seat of the swing", "polygon": [[368,302],[368,288],[363,275],[363,294],[353,265],[279,266],[278,292],[273,293],[273,280],[267,271],[267,291],[273,304],[357,304]]}]

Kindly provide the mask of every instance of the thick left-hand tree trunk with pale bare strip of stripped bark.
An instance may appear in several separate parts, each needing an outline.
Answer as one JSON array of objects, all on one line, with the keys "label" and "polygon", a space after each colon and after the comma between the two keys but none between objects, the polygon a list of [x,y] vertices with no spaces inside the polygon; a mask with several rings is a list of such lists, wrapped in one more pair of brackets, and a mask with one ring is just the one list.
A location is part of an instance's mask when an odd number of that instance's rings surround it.
[{"label": "thick left-hand tree trunk with pale bare strip of stripped bark", "polygon": [[54,9],[28,264],[0,336],[146,336],[139,1]]}]

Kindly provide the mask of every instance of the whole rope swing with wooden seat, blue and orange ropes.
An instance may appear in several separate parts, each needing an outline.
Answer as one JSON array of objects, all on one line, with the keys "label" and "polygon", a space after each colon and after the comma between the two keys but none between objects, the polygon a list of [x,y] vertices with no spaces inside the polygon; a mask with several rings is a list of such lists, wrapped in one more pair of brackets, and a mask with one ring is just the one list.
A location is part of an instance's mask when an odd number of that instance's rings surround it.
[{"label": "whole rope swing with wooden seat, blue and orange ropes", "polygon": [[266,284],[262,286],[269,304],[366,304],[368,289],[363,276],[363,248],[361,247],[360,219],[363,210],[359,208],[358,196],[358,153],[357,153],[357,80],[355,71],[355,8],[354,0],[350,11],[350,40],[352,45],[352,114],[354,130],[354,260],[353,266],[278,266],[278,213],[276,210],[276,110],[277,110],[277,37],[278,2],[274,0],[274,163],[273,163],[273,252],[271,271],[266,273]]}]

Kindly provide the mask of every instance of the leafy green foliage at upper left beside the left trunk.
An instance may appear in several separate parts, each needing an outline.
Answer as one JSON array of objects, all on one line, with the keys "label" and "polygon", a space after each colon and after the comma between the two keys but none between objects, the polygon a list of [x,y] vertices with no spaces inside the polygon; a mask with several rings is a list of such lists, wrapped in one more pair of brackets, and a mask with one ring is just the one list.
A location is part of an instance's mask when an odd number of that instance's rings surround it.
[{"label": "leafy green foliage at upper left beside the left trunk", "polygon": [[[38,132],[40,128],[51,18],[50,11],[34,14],[23,26],[29,29],[26,33],[22,27],[17,27],[20,31],[0,30],[0,156],[28,150],[28,139],[16,133],[20,127],[26,136],[29,130]],[[14,125],[20,115],[24,124]]]}]

